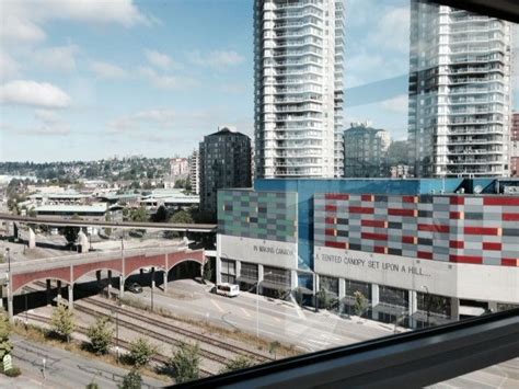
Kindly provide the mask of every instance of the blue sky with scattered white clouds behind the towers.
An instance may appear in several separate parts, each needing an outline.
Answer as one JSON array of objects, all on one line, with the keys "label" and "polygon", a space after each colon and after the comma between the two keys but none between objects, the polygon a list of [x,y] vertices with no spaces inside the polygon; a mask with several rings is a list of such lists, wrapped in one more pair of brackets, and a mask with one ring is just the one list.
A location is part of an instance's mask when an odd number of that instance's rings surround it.
[{"label": "blue sky with scattered white clouds behind the towers", "polygon": [[[0,13],[0,161],[187,156],[221,125],[253,135],[253,0],[2,0]],[[408,20],[408,0],[346,0],[345,128],[405,139]]]}]

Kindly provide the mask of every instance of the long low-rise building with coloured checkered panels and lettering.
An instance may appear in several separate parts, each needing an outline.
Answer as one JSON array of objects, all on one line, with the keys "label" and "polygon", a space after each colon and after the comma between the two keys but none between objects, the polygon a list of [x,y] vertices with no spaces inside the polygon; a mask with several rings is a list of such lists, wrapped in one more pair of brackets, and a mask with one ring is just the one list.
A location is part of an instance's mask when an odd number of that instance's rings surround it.
[{"label": "long low-rise building with coloured checkered panels and lettering", "polygon": [[519,180],[256,180],[218,196],[217,282],[411,327],[519,306]]}]

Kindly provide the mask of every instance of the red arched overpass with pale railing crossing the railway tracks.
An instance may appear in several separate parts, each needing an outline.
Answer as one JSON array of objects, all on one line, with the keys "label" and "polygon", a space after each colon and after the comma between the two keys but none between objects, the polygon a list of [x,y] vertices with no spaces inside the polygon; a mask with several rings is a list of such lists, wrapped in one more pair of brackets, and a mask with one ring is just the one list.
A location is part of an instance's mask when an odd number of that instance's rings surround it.
[{"label": "red arched overpass with pale railing crossing the railway tracks", "polygon": [[88,274],[95,272],[97,281],[101,281],[101,272],[107,271],[109,288],[112,274],[116,273],[119,277],[119,296],[123,296],[125,278],[132,273],[145,267],[151,267],[151,287],[153,288],[155,270],[159,270],[163,274],[163,286],[165,287],[168,285],[168,273],[174,266],[185,261],[199,263],[201,272],[205,263],[204,250],[192,251],[183,245],[170,245],[157,249],[147,248],[47,258],[18,262],[11,265],[0,264],[0,277],[4,290],[7,290],[8,311],[12,320],[13,296],[25,285],[35,281],[46,281],[47,295],[50,290],[51,281],[57,282],[59,296],[61,294],[61,285],[67,284],[69,307],[72,308],[73,285]]}]

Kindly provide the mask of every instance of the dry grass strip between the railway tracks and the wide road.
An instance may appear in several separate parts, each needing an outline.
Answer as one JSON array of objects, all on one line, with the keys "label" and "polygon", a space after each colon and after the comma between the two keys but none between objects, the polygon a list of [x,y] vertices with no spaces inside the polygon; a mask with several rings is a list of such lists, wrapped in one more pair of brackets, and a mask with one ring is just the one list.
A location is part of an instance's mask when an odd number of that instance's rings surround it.
[{"label": "dry grass strip between the railway tracks and the wide road", "polygon": [[[123,297],[120,298],[120,302],[132,308],[141,309],[148,312],[151,311],[150,307],[146,302],[138,300],[136,298]],[[168,319],[177,320],[180,322],[193,325],[195,328],[201,329],[204,332],[211,333],[212,335],[218,335],[215,337],[221,337],[221,336],[229,337],[229,339],[245,343],[250,346],[253,346],[257,351],[269,350],[270,342],[265,341],[263,339],[257,340],[255,335],[250,334],[247,332],[243,332],[239,329],[229,330],[229,329],[210,324],[200,320],[186,318],[180,314],[175,314],[171,310],[163,307],[159,307],[158,309],[154,309],[153,313],[160,314]],[[300,354],[302,354],[302,352],[299,351],[292,344],[287,345],[287,344],[281,343],[280,346],[276,350],[277,358],[289,357],[289,356],[295,356],[295,355],[300,355]]]}]

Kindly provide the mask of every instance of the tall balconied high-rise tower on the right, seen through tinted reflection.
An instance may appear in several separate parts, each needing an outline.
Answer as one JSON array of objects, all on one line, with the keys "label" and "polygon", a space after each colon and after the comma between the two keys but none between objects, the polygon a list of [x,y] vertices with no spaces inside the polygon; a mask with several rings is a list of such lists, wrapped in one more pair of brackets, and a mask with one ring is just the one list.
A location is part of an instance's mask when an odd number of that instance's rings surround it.
[{"label": "tall balconied high-rise tower on the right, seen through tinted reflection", "polygon": [[417,176],[509,174],[510,23],[411,2],[408,142]]}]

